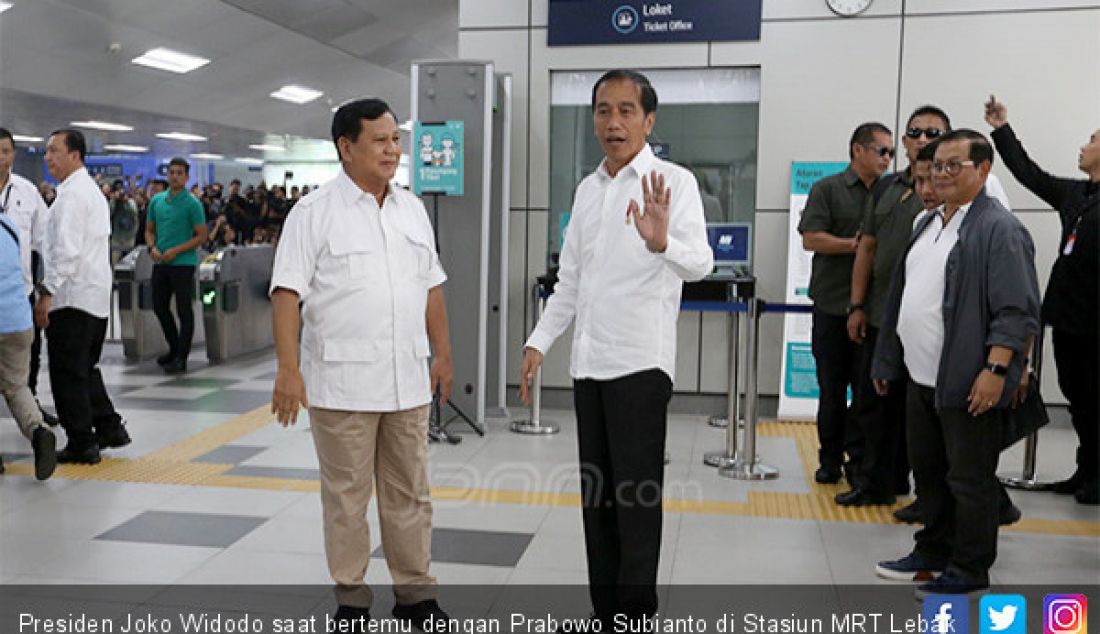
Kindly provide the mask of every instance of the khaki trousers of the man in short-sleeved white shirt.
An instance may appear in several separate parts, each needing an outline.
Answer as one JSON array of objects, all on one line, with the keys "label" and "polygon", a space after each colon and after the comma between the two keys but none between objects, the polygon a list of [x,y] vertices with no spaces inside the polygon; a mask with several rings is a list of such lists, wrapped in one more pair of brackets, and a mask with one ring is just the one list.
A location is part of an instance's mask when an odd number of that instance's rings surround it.
[{"label": "khaki trousers of the man in short-sleeved white shirt", "polygon": [[340,605],[370,608],[366,509],[378,491],[382,548],[400,604],[436,598],[428,489],[428,405],[400,412],[309,409],[321,468],[324,554]]}]

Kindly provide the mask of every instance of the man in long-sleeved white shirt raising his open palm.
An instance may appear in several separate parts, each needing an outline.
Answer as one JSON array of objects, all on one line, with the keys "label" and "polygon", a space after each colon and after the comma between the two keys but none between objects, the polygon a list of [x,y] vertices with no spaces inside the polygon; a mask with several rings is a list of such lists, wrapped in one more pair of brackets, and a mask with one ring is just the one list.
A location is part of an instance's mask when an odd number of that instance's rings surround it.
[{"label": "man in long-sleeved white shirt raising his open palm", "polygon": [[[664,433],[684,281],[714,256],[691,172],[653,155],[657,92],[632,70],[592,91],[605,157],[576,188],[561,269],[527,341],[520,396],[575,319],[570,374],[576,411],[584,540],[595,617],[657,611]],[[631,227],[632,225],[632,227]]]}]

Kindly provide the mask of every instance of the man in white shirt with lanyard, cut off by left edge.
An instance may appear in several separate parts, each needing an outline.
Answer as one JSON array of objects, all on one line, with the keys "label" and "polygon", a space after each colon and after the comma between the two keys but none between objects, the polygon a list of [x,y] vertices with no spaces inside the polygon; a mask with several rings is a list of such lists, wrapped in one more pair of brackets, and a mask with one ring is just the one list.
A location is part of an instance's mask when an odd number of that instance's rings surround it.
[{"label": "man in white shirt with lanyard, cut off by left edge", "polygon": [[[11,171],[15,162],[15,139],[4,128],[0,128],[0,209],[4,216],[19,227],[26,249],[21,255],[23,266],[23,285],[31,306],[34,306],[34,265],[33,262],[45,251],[46,222],[50,207],[38,194],[38,188],[26,178]],[[34,340],[31,343],[30,374],[28,387],[31,394],[37,394],[38,358],[42,353],[42,329],[34,328]],[[37,405],[46,425],[57,426],[57,417]]]}]

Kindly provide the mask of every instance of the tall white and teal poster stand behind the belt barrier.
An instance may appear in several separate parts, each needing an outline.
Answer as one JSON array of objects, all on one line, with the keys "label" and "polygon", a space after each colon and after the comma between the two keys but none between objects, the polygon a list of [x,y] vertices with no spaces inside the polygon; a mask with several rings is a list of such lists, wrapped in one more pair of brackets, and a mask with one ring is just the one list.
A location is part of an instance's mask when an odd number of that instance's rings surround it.
[{"label": "tall white and teal poster stand behind the belt barrier", "polygon": [[[791,212],[787,244],[787,304],[811,304],[810,270],[813,253],[802,248],[799,221],[806,207],[810,188],[826,176],[844,172],[847,163],[791,164]],[[783,316],[783,356],[780,360],[779,418],[814,419],[817,416],[817,365],[811,345],[809,313]]]}]

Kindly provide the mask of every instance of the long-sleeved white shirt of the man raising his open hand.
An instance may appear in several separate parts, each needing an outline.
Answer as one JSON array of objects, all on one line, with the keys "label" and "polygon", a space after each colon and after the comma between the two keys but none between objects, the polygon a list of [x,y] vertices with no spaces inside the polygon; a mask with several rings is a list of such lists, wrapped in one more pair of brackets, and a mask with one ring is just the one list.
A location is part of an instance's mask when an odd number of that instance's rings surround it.
[{"label": "long-sleeved white shirt of the man raising his open hand", "polygon": [[[631,198],[645,205],[641,178],[654,170],[672,189],[663,253],[646,249],[632,221],[626,222]],[[575,318],[574,379],[609,380],[652,369],[674,379],[683,282],[701,280],[714,267],[695,177],[654,156],[648,143],[615,177],[605,160],[576,187],[560,265],[527,347],[546,354]]]}]

